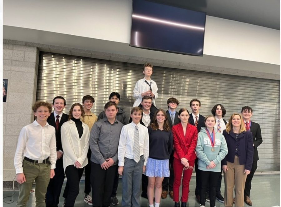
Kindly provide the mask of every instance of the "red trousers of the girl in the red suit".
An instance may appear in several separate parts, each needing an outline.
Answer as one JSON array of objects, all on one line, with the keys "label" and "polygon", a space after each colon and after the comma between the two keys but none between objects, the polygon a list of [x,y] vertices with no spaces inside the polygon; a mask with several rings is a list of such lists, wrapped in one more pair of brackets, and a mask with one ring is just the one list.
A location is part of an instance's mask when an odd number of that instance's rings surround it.
[{"label": "red trousers of the girl in the red suit", "polygon": [[[190,160],[189,166],[194,167],[194,161]],[[175,174],[175,180],[174,180],[174,201],[179,202],[180,197],[180,180],[182,175],[182,170],[184,168],[184,165],[181,164],[181,161],[177,158],[174,159],[174,174]],[[184,170],[184,175],[182,179],[182,194],[181,194],[181,202],[188,202],[188,193],[189,193],[189,182],[192,175],[193,169],[187,169]]]}]

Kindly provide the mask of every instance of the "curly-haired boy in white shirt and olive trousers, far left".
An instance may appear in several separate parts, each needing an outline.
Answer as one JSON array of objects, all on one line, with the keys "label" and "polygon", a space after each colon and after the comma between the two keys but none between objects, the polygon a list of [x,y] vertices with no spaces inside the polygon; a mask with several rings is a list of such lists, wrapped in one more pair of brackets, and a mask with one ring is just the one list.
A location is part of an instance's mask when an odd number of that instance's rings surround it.
[{"label": "curly-haired boy in white shirt and olive trousers, far left", "polygon": [[57,150],[56,131],[47,123],[52,105],[38,101],[32,106],[36,120],[20,132],[14,158],[16,179],[19,183],[17,206],[27,206],[35,180],[36,206],[46,206],[45,196],[50,178],[55,176]]}]

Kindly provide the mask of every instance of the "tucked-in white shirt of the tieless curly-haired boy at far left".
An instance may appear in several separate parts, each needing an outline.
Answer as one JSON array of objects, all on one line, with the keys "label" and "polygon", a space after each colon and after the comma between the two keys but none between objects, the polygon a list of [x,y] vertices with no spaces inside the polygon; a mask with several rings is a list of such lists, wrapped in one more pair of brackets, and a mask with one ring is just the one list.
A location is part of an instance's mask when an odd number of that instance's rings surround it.
[{"label": "tucked-in white shirt of the tieless curly-haired boy at far left", "polygon": [[56,148],[56,130],[48,122],[43,127],[36,120],[24,126],[18,137],[14,158],[16,173],[23,173],[22,161],[24,157],[32,160],[45,160],[50,157],[51,169],[55,169]]}]

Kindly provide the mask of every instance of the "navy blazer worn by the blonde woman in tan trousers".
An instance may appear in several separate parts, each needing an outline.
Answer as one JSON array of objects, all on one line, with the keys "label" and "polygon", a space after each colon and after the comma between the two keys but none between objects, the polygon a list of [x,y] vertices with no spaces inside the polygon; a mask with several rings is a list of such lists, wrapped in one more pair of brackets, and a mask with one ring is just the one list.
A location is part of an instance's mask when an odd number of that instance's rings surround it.
[{"label": "navy blazer worn by the blonde woman in tan trousers", "polygon": [[[226,140],[228,153],[225,158],[221,161],[222,165],[226,165],[226,161],[234,163],[235,155],[235,146],[236,140],[234,138],[233,131],[230,131],[229,134],[224,130],[223,136]],[[253,164],[253,136],[249,131],[244,131],[238,136],[238,155],[239,155],[239,164],[245,165],[246,170],[252,169]]]}]

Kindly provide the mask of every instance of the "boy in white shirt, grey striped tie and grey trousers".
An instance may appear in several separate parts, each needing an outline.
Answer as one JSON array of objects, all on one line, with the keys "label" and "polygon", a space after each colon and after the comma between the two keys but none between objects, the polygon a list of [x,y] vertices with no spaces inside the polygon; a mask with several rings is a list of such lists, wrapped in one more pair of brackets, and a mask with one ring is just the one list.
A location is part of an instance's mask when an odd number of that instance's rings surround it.
[{"label": "boy in white shirt, grey striped tie and grey trousers", "polygon": [[122,206],[140,206],[141,177],[149,156],[148,130],[141,125],[142,109],[131,110],[132,122],[123,126],[118,146],[118,173],[122,175]]}]

